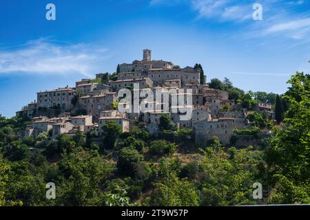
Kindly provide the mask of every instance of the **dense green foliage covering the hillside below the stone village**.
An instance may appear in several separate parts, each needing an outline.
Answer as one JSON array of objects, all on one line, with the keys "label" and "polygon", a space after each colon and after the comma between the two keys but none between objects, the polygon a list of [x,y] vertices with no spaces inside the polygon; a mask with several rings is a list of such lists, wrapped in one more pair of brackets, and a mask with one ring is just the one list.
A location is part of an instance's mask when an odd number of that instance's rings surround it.
[{"label": "dense green foliage covering the hillside below the stone village", "polygon": [[[0,206],[238,206],[310,203],[310,76],[297,73],[282,96],[283,122],[262,146],[222,146],[217,137],[195,146],[191,129],[165,115],[158,136],[143,126],[122,133],[118,124],[74,137],[48,133],[22,138],[28,118],[0,118]],[[225,79],[224,87],[233,89]],[[248,93],[251,103],[256,95]],[[236,130],[258,136],[270,121],[260,113]],[[56,199],[46,199],[46,184]],[[263,198],[254,199],[260,182]]]}]

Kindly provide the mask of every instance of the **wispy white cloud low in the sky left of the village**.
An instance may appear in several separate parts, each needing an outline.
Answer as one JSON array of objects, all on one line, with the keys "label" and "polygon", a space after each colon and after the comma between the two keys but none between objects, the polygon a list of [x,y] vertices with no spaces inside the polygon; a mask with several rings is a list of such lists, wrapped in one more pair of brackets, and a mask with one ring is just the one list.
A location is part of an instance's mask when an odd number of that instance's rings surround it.
[{"label": "wispy white cloud low in the sky left of the village", "polygon": [[83,74],[110,58],[106,48],[92,44],[63,45],[50,39],[0,48],[0,74]]}]

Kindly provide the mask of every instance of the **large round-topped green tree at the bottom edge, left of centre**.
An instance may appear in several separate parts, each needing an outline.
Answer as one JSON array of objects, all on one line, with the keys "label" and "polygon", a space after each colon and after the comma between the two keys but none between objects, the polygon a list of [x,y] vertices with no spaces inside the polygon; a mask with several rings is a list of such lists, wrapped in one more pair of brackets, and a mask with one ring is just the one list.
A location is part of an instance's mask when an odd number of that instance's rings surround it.
[{"label": "large round-topped green tree at the bottom edge, left of centre", "polygon": [[59,163],[64,181],[57,187],[56,202],[65,206],[103,206],[108,201],[101,189],[113,165],[95,151],[65,153]]}]

